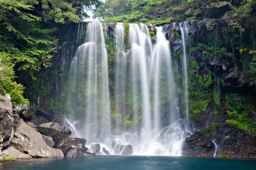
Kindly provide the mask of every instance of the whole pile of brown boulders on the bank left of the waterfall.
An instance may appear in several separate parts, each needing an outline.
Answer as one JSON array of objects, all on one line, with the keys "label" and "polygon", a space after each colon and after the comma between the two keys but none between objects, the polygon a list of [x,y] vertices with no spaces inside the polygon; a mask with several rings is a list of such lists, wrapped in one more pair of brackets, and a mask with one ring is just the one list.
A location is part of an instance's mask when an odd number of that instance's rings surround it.
[{"label": "whole pile of brown boulders on the bank left of the waterfall", "polygon": [[6,102],[0,101],[0,161],[13,160],[13,158],[95,155],[87,152],[85,139],[69,137],[72,131],[60,124],[62,119],[57,119],[59,123],[50,122],[54,114],[46,107],[44,100],[40,100],[43,98],[41,95],[38,97],[41,112],[39,114],[45,114],[44,117],[34,117],[28,105],[13,105],[9,94],[1,98]]}]

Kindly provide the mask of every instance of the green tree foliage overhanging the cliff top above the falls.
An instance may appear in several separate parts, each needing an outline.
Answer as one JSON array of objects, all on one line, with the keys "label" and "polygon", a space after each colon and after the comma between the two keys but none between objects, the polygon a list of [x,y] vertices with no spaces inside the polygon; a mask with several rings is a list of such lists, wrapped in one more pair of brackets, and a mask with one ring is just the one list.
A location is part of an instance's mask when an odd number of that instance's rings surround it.
[{"label": "green tree foliage overhanging the cliff top above the falls", "polygon": [[[255,0],[106,0],[94,9],[94,17],[105,22],[164,25],[190,19],[219,18],[232,10],[235,26],[251,15]],[[209,30],[213,29],[209,24]]]}]

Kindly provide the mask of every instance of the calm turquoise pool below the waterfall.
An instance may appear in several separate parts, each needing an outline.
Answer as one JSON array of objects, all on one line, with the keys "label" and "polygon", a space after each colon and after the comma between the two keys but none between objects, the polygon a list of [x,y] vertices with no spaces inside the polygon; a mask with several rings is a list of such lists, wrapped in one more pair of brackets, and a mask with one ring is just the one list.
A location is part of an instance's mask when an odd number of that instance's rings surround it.
[{"label": "calm turquoise pool below the waterfall", "polygon": [[256,159],[97,155],[1,162],[0,169],[256,169]]}]

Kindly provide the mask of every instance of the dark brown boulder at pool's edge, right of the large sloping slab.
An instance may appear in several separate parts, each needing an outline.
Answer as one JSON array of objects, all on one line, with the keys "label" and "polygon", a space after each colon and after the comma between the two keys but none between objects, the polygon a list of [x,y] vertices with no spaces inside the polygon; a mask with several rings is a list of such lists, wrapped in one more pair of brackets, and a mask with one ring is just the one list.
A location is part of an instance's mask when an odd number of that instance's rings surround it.
[{"label": "dark brown boulder at pool's edge, right of the large sloping slab", "polygon": [[[85,147],[86,140],[84,138],[64,138],[57,145],[56,148],[59,148],[63,151],[64,155],[68,153],[68,151],[72,148],[80,148],[83,152],[87,151],[88,148]],[[87,150],[86,150],[87,148]]]}]

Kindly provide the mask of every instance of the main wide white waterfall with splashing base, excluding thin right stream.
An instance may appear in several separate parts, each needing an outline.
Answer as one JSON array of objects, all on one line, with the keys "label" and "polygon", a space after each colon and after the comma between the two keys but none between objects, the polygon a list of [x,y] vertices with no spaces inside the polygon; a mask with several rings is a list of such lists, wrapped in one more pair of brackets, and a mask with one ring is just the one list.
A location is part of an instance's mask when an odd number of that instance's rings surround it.
[{"label": "main wide white waterfall with splashing base, excluding thin right stream", "polygon": [[[108,150],[111,154],[126,154],[125,148],[132,147],[134,154],[181,155],[187,124],[179,119],[169,42],[162,27],[157,29],[157,41],[152,45],[146,24],[129,24],[129,36],[124,26],[117,23],[115,27],[111,124],[103,31],[106,28],[99,22],[87,26],[86,40],[78,47],[70,66],[68,103],[74,105],[72,98],[77,98],[78,110],[84,110],[80,113],[84,120],[82,130],[74,129],[73,137],[85,138],[87,147],[99,143],[101,153]],[[124,35],[129,37],[129,45],[124,43]],[[76,92],[81,85],[86,87],[83,95]]]}]

